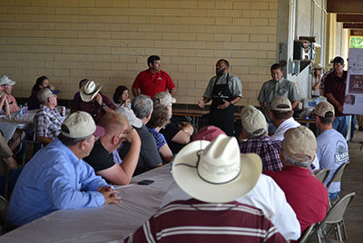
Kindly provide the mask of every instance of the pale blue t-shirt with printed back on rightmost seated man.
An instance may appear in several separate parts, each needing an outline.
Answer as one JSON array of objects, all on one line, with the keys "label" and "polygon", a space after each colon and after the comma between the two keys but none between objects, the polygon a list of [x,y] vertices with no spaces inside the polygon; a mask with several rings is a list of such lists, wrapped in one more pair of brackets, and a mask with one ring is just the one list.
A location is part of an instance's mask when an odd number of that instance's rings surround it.
[{"label": "pale blue t-shirt with printed back on rightmost seated man", "polygon": [[[334,129],[321,132],[317,142],[320,169],[330,169],[328,183],[338,168],[349,160],[348,143],[343,135]],[[331,183],[328,191],[329,193],[340,191],[340,182]]]}]

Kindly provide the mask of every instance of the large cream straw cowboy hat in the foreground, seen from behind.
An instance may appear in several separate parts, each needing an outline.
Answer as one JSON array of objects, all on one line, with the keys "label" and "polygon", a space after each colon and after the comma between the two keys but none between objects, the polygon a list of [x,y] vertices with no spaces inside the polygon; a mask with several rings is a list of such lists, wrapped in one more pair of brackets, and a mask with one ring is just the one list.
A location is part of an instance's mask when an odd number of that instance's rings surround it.
[{"label": "large cream straw cowboy hat in the foreground, seen from behind", "polygon": [[195,199],[229,202],[254,188],[262,162],[255,153],[240,154],[236,138],[219,135],[214,141],[192,141],[179,151],[172,177]]}]

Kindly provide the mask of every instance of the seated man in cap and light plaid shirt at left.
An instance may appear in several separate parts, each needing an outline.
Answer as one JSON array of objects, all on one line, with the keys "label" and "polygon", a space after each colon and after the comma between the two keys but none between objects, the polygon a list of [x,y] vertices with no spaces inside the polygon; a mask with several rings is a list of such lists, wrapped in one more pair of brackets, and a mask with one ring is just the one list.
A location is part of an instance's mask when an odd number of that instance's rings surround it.
[{"label": "seated man in cap and light plaid shirt at left", "polygon": [[64,117],[55,110],[57,106],[57,95],[49,88],[38,92],[40,110],[34,117],[36,141],[43,145],[54,141],[61,132]]}]

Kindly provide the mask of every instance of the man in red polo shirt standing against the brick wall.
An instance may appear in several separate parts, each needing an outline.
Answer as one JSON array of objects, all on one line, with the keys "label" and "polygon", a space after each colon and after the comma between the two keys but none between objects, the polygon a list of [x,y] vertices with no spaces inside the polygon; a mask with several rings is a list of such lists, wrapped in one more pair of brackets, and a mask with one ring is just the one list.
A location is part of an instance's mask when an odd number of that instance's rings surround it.
[{"label": "man in red polo shirt standing against the brick wall", "polygon": [[[148,58],[149,69],[139,73],[132,84],[132,94],[134,97],[140,93],[149,95],[152,99],[155,93],[168,91],[174,96],[176,92],[175,84],[168,73],[161,69],[160,57],[151,55]],[[140,92],[139,92],[140,89]]]}]

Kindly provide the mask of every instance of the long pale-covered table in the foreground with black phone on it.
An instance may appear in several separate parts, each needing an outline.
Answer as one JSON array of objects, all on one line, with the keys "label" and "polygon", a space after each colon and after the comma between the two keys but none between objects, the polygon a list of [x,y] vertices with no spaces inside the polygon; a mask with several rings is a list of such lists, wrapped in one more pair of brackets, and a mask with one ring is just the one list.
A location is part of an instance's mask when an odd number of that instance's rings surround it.
[{"label": "long pale-covered table in the foreground with black phone on it", "polygon": [[[171,165],[150,170],[118,186],[123,203],[94,209],[58,210],[6,233],[0,242],[110,242],[142,226],[159,209],[172,184]],[[154,180],[142,186],[140,180]],[[26,203],[26,199],[24,201]]]}]

